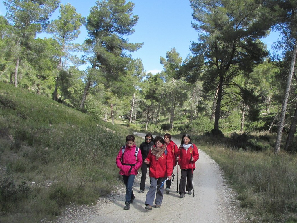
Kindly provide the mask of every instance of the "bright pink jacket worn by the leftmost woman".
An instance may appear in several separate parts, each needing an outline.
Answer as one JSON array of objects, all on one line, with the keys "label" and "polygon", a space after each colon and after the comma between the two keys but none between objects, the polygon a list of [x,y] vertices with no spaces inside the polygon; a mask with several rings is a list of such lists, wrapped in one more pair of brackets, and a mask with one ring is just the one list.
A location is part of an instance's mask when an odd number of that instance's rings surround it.
[{"label": "bright pink jacket worn by the leftmost woman", "polygon": [[[125,150],[124,150],[124,154],[122,153],[122,147],[119,151],[118,156],[116,157],[116,165],[117,167],[120,168],[120,174],[121,175],[125,175],[125,176],[129,176],[129,175],[137,175],[138,174],[138,169],[141,167],[142,165],[142,155],[141,155],[141,151],[140,149],[138,149],[138,154],[137,154],[137,159],[135,157],[135,148],[136,145],[132,145],[131,147],[129,146],[125,146]],[[121,162],[121,158],[122,158],[122,154],[123,154],[123,161]],[[132,167],[130,173],[129,170],[131,168],[131,166],[128,165],[123,165],[123,163],[126,164],[135,164],[135,166]]]}]

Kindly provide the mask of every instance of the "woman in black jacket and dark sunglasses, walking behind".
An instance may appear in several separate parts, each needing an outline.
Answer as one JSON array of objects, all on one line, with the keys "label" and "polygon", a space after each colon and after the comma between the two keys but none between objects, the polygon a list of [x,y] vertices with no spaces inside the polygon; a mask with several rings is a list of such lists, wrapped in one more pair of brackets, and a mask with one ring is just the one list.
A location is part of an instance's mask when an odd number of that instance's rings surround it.
[{"label": "woman in black jacket and dark sunglasses, walking behind", "polygon": [[[143,143],[141,143],[139,146],[143,161],[146,159],[151,147],[154,145],[154,138],[151,135],[151,133],[146,134],[146,137],[144,137],[144,138],[145,138],[145,141]],[[138,193],[140,193],[140,194],[144,192],[144,188],[145,188],[145,184],[146,184],[146,173],[148,171],[148,167],[149,167],[149,165],[147,165],[145,162],[142,163],[141,179],[140,179],[140,185],[139,185],[140,190],[138,191]]]}]

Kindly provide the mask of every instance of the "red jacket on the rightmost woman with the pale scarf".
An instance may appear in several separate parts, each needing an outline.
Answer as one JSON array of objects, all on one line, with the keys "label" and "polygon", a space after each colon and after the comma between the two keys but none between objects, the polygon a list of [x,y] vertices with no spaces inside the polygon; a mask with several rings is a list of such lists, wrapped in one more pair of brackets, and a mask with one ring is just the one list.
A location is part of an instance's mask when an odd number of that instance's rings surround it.
[{"label": "red jacket on the rightmost woman with the pale scarf", "polygon": [[[181,169],[195,169],[195,162],[199,159],[198,148],[195,144],[192,144],[187,150],[180,145],[177,154],[179,155],[178,165]],[[191,155],[194,161],[190,161]]]}]

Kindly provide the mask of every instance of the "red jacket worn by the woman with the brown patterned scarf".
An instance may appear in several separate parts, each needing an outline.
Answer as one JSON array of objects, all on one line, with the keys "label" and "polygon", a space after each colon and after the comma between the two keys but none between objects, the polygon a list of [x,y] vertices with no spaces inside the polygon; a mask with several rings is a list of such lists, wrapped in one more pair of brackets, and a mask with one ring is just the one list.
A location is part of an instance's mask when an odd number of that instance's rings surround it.
[{"label": "red jacket worn by the woman with the brown patterned scarf", "polygon": [[153,178],[162,178],[168,177],[172,175],[173,172],[173,162],[172,162],[172,153],[167,151],[167,155],[165,155],[165,151],[159,159],[156,159],[156,156],[149,151],[146,160],[149,161],[149,176]]}]

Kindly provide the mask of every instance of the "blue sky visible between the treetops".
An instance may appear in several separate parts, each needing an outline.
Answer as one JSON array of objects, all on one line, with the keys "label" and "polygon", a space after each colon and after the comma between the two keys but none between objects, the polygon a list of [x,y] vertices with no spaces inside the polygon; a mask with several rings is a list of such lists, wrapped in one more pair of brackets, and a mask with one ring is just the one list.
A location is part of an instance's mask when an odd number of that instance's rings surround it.
[{"label": "blue sky visible between the treetops", "polygon": [[[192,9],[188,0],[130,0],[135,4],[133,14],[138,15],[138,23],[134,26],[134,34],[128,36],[129,42],[143,42],[143,47],[135,53],[133,58],[140,58],[147,73],[156,74],[163,70],[160,64],[160,56],[166,57],[166,52],[176,48],[183,60],[190,53],[190,41],[196,41],[198,33],[191,26]],[[126,0],[127,2],[127,0]],[[95,5],[94,0],[61,0],[61,4],[72,4],[78,13],[87,17],[89,10]],[[0,4],[0,15],[5,15],[6,9],[3,2]],[[59,9],[52,18],[59,16]],[[87,33],[84,28],[77,43],[86,39]],[[271,33],[263,39],[268,49],[277,40],[277,34]]]}]

